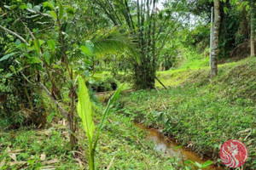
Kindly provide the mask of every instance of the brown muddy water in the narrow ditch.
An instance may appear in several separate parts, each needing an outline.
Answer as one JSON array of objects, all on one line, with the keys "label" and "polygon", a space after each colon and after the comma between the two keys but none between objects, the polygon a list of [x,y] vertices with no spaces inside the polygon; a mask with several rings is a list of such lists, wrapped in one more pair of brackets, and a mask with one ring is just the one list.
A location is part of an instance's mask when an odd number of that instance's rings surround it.
[{"label": "brown muddy water in the narrow ditch", "polygon": [[[163,134],[153,128],[143,127],[140,124],[137,124],[137,127],[140,127],[144,130],[148,131],[148,136],[146,139],[149,141],[154,142],[154,149],[156,151],[162,152],[165,156],[175,156],[180,159],[180,161],[190,160],[190,161],[197,161],[199,163],[203,163],[207,161],[207,159],[201,159],[195,152],[185,149],[183,147],[177,148],[179,146],[176,144],[172,139],[166,138]],[[196,169],[196,168],[195,168]],[[214,165],[207,167],[207,170],[224,170],[223,167],[216,167]]]}]

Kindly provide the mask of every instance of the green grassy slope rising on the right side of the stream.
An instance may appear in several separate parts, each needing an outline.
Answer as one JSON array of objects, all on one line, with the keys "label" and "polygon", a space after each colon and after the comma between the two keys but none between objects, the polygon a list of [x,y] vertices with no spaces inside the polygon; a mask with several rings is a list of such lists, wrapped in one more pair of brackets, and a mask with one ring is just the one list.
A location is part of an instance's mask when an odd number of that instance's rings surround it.
[{"label": "green grassy slope rising on the right side of the stream", "polygon": [[249,150],[246,169],[256,169],[256,58],[219,65],[212,82],[208,73],[207,67],[159,72],[167,90],[133,92],[119,102],[127,114],[215,160],[221,144],[240,139]]}]

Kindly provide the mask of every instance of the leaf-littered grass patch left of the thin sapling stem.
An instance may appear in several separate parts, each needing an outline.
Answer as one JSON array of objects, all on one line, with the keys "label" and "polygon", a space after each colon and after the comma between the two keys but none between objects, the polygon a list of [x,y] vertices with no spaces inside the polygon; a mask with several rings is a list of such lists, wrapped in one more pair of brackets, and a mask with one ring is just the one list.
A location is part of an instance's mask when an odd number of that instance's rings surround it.
[{"label": "leaf-littered grass patch left of the thin sapling stem", "polygon": [[[39,169],[55,166],[58,169],[79,169],[68,151],[67,133],[55,128],[19,130],[0,134],[2,169]],[[46,155],[44,161],[41,155]],[[11,156],[15,156],[16,160]],[[23,161],[22,164],[19,162]],[[54,162],[50,162],[54,161]]]}]

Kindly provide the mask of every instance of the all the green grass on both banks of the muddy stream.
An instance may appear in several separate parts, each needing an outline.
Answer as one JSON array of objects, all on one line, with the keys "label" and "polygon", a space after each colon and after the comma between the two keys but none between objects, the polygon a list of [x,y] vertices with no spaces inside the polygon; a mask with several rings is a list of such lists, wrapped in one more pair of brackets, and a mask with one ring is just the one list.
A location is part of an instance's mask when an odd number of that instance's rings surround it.
[{"label": "all the green grass on both banks of the muddy stream", "polygon": [[[219,65],[219,75],[212,82],[208,74],[209,68],[197,66],[163,71],[158,77],[168,89],[123,93],[119,110],[111,114],[100,136],[97,169],[105,169],[112,159],[111,169],[182,169],[177,161],[154,151],[145,132],[134,126],[135,119],[163,127],[164,133],[218,162],[220,145],[228,139],[240,139],[249,150],[244,168],[255,169],[256,59]],[[102,75],[109,76],[96,74]],[[94,110],[98,124],[102,105],[95,105]],[[242,133],[245,129],[249,131]],[[82,128],[78,138],[79,152],[73,153],[66,126],[57,123],[48,129],[0,132],[0,164],[4,160],[2,169],[88,169]],[[24,164],[18,164],[20,161]]]}]

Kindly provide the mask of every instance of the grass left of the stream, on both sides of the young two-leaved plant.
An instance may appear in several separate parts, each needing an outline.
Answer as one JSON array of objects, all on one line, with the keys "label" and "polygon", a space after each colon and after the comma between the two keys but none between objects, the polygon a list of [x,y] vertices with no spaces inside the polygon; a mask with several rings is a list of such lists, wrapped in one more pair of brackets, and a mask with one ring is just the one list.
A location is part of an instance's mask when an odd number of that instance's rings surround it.
[{"label": "grass left of the stream, on both sides of the young two-leaved plant", "polygon": [[[95,108],[96,113],[102,112],[101,106]],[[100,119],[99,115],[96,114],[96,122]],[[173,169],[175,161],[155,153],[153,145],[144,138],[145,133],[134,126],[131,118],[113,113],[96,149],[96,169],[108,167],[113,157],[111,169]],[[79,128],[79,139],[79,146],[85,145],[82,128]],[[68,133],[65,126],[60,124],[54,124],[49,129],[20,129],[0,133],[0,165],[5,159],[2,169],[40,169],[54,166],[56,169],[66,170],[88,167],[83,150],[79,149],[79,154],[74,158],[67,144]],[[40,159],[42,154],[46,155],[45,160]],[[16,161],[11,156],[15,156]],[[20,161],[25,161],[25,164],[19,165]],[[79,166],[79,161],[82,167]]]}]

